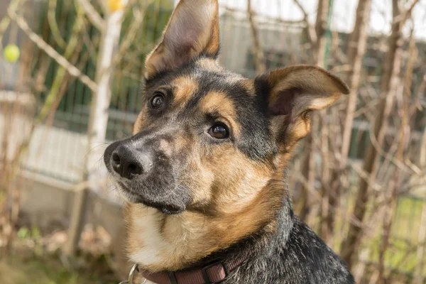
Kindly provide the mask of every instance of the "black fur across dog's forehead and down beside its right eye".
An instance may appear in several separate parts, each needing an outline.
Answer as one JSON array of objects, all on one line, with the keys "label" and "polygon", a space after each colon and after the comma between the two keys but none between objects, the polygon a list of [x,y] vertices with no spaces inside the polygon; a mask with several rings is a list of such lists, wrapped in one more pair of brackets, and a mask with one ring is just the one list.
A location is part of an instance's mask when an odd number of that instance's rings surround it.
[{"label": "black fur across dog's forehead and down beside its right eye", "polygon": [[200,99],[202,99],[207,92],[226,92],[226,96],[234,101],[239,123],[244,129],[242,133],[243,136],[239,141],[236,141],[237,146],[253,160],[271,158],[271,153],[275,151],[275,146],[271,143],[269,120],[268,117],[265,116],[267,113],[267,94],[269,90],[266,82],[257,80],[255,87],[256,93],[259,95],[250,97],[238,82],[235,84],[226,82],[226,79],[230,76],[241,77],[241,75],[236,75],[226,70],[218,70],[217,72],[204,70],[195,64],[197,60],[202,58],[204,58],[204,55],[195,58],[192,62],[172,72],[162,72],[146,80],[143,91],[144,96],[150,97],[152,90],[164,84],[168,84],[168,82],[175,77],[182,75],[197,77],[197,83],[200,84],[200,91],[190,99],[185,109],[182,109],[180,112],[180,120],[192,119],[190,116],[191,109],[197,106]]}]

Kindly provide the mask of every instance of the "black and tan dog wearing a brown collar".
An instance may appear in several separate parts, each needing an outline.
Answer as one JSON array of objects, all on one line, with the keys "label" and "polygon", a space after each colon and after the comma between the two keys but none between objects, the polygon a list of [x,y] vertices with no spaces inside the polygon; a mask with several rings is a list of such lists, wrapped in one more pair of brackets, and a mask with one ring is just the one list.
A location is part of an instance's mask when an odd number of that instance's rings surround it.
[{"label": "black and tan dog wearing a brown collar", "polygon": [[310,113],[349,89],[310,65],[248,79],[217,62],[217,0],[180,0],[146,58],[133,136],[104,163],[147,283],[354,283],[293,214],[286,165]]}]

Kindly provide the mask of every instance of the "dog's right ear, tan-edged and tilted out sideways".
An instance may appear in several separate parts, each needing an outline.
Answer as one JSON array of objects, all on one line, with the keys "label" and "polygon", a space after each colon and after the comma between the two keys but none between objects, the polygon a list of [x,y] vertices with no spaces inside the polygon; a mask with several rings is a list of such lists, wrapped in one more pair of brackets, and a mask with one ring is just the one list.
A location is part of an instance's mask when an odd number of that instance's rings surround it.
[{"label": "dog's right ear, tan-edged and tilted out sideways", "polygon": [[334,103],[349,89],[338,77],[320,67],[295,65],[256,77],[266,83],[268,115],[278,146],[285,150],[310,131],[309,113]]}]

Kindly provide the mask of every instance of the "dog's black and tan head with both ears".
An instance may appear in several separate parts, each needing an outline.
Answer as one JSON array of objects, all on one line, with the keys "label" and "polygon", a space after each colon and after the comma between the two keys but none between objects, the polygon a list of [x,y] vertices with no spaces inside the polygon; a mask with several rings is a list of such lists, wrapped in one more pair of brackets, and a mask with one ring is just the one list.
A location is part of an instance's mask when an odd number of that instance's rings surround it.
[{"label": "dog's black and tan head with both ears", "polygon": [[219,67],[218,53],[217,1],[181,0],[146,60],[133,136],[105,151],[129,202],[229,218],[271,208],[268,184],[282,181],[295,143],[310,131],[310,111],[348,92],[307,65],[246,79]]}]

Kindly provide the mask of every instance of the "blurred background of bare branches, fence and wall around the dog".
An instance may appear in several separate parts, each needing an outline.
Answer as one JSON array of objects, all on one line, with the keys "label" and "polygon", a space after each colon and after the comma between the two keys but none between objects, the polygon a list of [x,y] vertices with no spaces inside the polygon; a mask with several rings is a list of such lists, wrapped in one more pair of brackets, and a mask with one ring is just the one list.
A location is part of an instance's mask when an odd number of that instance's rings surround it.
[{"label": "blurred background of bare branches, fence and wall around the dog", "polygon": [[[131,135],[144,59],[176,2],[0,0],[1,283],[126,278],[102,154]],[[351,88],[290,164],[297,215],[357,283],[426,283],[426,1],[219,6],[225,67],[320,65]]]}]

